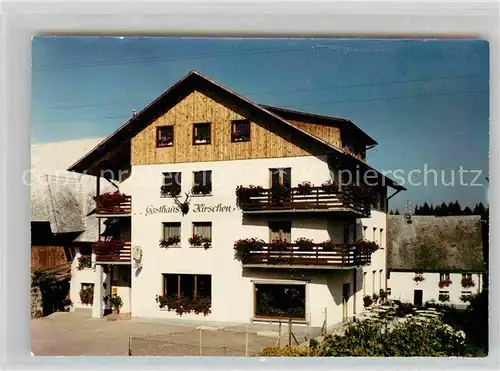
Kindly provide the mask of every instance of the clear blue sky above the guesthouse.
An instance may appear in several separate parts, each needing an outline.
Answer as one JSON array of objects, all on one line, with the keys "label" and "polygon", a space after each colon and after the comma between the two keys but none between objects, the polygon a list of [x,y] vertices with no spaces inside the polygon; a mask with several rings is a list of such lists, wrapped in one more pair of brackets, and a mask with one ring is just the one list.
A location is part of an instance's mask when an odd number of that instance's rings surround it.
[{"label": "clear blue sky above the guesthouse", "polygon": [[[378,170],[483,171],[483,187],[407,186],[390,202],[486,201],[485,41],[37,37],[32,142],[107,136],[190,70],[257,103],[348,118]],[[417,177],[415,177],[417,178]],[[471,182],[474,176],[466,175]],[[422,180],[422,178],[420,178]]]}]

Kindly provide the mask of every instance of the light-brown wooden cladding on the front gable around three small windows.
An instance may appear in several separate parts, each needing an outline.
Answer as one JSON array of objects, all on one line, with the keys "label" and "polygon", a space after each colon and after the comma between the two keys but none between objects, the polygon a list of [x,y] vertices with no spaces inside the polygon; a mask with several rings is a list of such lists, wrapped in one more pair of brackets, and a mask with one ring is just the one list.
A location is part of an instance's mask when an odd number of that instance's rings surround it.
[{"label": "light-brown wooden cladding on the front gable around three small windows", "polygon": [[[249,119],[250,141],[231,142],[231,121]],[[193,145],[193,124],[211,123],[211,143]],[[156,147],[156,128],[173,125],[171,147]],[[272,122],[210,91],[196,90],[131,140],[132,165],[320,155],[325,148],[284,123]]]}]

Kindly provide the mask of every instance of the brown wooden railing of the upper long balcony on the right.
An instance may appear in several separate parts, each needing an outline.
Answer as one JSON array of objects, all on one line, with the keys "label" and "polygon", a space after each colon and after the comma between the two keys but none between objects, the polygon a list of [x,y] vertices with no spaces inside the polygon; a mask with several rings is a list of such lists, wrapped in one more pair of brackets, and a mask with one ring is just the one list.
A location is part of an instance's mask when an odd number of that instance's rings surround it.
[{"label": "brown wooden railing of the upper long balcony on the right", "polygon": [[290,188],[288,192],[279,194],[271,188],[263,188],[247,192],[237,199],[244,212],[330,210],[353,212],[361,217],[370,216],[370,204],[348,188],[329,193],[323,187],[311,187],[309,194],[300,193],[298,188]]}]

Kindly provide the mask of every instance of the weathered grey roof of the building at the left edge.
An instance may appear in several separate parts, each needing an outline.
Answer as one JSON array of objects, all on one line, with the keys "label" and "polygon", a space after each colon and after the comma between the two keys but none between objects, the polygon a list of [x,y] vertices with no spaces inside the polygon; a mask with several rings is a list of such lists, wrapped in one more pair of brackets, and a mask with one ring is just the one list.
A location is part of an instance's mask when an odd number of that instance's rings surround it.
[{"label": "weathered grey roof of the building at the left edge", "polygon": [[[97,239],[97,219],[87,216],[95,207],[97,178],[66,169],[102,138],[31,146],[31,220],[50,223],[53,233],[83,232],[75,241]],[[103,192],[114,187],[101,181]]]}]

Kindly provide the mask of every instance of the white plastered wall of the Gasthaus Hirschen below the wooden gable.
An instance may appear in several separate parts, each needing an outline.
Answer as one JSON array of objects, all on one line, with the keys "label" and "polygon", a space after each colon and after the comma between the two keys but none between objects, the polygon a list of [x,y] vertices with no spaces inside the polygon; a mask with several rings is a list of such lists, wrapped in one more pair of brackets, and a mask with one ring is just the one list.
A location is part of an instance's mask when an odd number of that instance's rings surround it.
[{"label": "white plastered wall of the Gasthaus Hirschen below the wooden gable", "polygon": [[[120,191],[132,196],[132,246],[142,248],[142,269],[136,273],[132,265],[131,312],[134,317],[178,317],[175,312],[161,310],[155,297],[162,293],[162,273],[210,274],[212,276],[212,313],[203,315],[184,314],[183,318],[196,318],[229,322],[246,322],[253,317],[253,281],[293,280],[307,282],[306,317],[313,326],[321,326],[327,308],[328,325],[342,320],[342,284],[351,283],[353,292],[353,269],[343,270],[295,270],[293,275],[286,269],[242,269],[234,259],[233,244],[240,238],[258,237],[269,240],[269,220],[292,219],[292,241],[307,237],[315,242],[328,239],[343,241],[343,219],[330,218],[321,214],[305,218],[296,216],[243,216],[236,208],[235,190],[238,185],[269,186],[269,168],[291,167],[292,186],[302,181],[320,185],[330,179],[325,161],[317,157],[275,158],[241,161],[201,162],[183,164],[133,166],[131,176],[120,185]],[[163,172],[182,172],[182,194],[190,193],[193,171],[212,171],[212,195],[191,197],[190,211],[180,213],[148,213],[151,208],[174,207],[172,198],[160,197]],[[181,200],[184,197],[179,197]],[[228,206],[230,211],[203,212],[198,205],[207,207]],[[361,223],[370,230],[377,225],[385,228],[385,214],[373,212],[373,218],[362,219]],[[193,222],[212,222],[212,248],[191,248],[188,238],[192,235]],[[181,246],[161,248],[162,222],[181,223]],[[358,236],[360,236],[358,234]],[[370,235],[367,236],[368,239]],[[385,240],[385,236],[383,237]],[[373,255],[373,269],[383,270],[385,282],[385,250]],[[370,267],[363,270],[370,272]],[[379,274],[379,273],[377,273]],[[362,279],[358,274],[356,297],[357,312],[362,309]],[[378,277],[378,276],[377,276]],[[378,284],[377,284],[378,285]],[[383,284],[385,287],[385,284]],[[378,292],[379,286],[377,286]],[[349,315],[353,313],[353,298],[349,302]],[[359,308],[359,309],[358,309]]]}]

